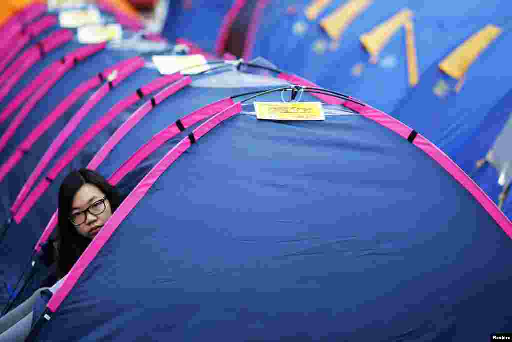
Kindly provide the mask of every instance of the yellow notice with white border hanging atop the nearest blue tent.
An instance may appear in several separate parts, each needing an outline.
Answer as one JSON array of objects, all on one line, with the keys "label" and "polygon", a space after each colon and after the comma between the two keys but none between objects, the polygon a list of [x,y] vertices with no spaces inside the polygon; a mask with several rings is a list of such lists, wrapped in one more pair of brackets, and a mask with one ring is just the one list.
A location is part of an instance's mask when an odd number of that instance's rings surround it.
[{"label": "yellow notice with white border hanging atop the nearest blue tent", "polygon": [[321,102],[254,102],[256,117],[265,120],[325,120]]}]

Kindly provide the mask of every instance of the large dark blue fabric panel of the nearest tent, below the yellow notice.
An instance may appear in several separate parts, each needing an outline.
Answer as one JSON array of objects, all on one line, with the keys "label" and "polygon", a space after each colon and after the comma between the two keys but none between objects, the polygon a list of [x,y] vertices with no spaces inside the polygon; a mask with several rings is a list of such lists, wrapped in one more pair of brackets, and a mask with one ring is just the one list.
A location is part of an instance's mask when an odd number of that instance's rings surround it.
[{"label": "large dark blue fabric panel of the nearest tent, below the yellow notice", "polygon": [[203,125],[215,128],[195,144],[185,137],[168,149],[80,259],[77,285],[63,284],[69,296],[52,297],[37,340],[463,340],[502,331],[506,305],[493,303],[507,301],[510,237],[419,146],[330,109],[319,123],[237,110]]}]

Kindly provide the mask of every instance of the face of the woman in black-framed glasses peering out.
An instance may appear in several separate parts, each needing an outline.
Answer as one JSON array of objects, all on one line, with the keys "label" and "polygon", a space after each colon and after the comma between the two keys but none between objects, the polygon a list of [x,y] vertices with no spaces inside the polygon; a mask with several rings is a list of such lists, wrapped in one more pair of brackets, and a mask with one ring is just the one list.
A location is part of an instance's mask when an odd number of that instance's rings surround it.
[{"label": "face of the woman in black-framed glasses peering out", "polygon": [[[102,199],[105,199],[104,205]],[[110,216],[112,207],[103,191],[93,184],[82,185],[73,198],[70,212],[70,217],[73,217],[75,222],[82,222],[75,225],[78,233],[84,237],[94,238]]]}]

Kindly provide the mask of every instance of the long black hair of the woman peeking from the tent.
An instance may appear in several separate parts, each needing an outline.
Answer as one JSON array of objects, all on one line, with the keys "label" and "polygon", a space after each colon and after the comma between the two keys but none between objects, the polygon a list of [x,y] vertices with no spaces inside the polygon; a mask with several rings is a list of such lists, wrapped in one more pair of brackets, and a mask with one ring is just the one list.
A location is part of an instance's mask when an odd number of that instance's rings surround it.
[{"label": "long black hair of the woman peeking from the tent", "polygon": [[59,188],[59,213],[58,213],[58,253],[57,273],[61,278],[68,274],[76,261],[91,243],[91,239],[78,233],[76,227],[69,220],[71,206],[75,194],[84,184],[97,186],[109,199],[112,212],[122,202],[118,190],[111,185],[102,175],[89,169],[80,169],[71,172],[63,180]]}]

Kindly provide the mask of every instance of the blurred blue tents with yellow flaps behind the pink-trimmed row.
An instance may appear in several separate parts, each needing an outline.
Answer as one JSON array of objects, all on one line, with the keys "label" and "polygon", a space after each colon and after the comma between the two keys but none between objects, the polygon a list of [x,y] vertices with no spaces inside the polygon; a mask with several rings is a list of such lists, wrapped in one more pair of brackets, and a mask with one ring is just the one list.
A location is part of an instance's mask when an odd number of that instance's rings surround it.
[{"label": "blurred blue tents with yellow flaps behind the pink-trimmed row", "polygon": [[[263,56],[364,99],[431,139],[498,202],[510,185],[506,168],[488,158],[498,170],[478,170],[477,161],[510,118],[510,6],[500,0],[196,0],[171,6],[164,35],[220,55]],[[189,25],[196,18],[203,24]],[[498,184],[500,175],[506,180]],[[503,210],[512,214],[512,199]]]}]

